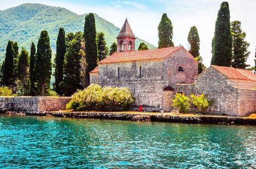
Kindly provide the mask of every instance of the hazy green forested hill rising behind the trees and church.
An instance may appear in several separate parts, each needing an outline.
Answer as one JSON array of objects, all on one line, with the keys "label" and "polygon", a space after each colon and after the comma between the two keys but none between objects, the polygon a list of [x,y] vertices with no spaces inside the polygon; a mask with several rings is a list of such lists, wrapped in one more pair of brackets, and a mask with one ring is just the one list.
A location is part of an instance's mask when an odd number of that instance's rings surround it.
[{"label": "hazy green forested hill rising behind the trees and church", "polygon": [[[78,15],[65,8],[43,4],[26,3],[21,6],[0,11],[0,60],[4,58],[8,40],[18,42],[19,49],[30,48],[31,41],[37,43],[42,30],[50,34],[51,47],[56,50],[58,29],[64,27],[67,32],[83,32],[86,14]],[[116,42],[120,28],[95,14],[97,32],[104,32],[107,45]],[[136,48],[144,40],[136,40]],[[154,45],[145,42],[149,48]]]}]

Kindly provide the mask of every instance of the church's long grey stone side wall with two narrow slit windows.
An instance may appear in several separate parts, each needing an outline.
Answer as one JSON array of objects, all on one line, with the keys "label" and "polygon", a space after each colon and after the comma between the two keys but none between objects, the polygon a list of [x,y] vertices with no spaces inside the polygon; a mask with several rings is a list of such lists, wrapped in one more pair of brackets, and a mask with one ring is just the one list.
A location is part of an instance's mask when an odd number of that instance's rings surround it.
[{"label": "church's long grey stone side wall with two narrow slit windows", "polygon": [[135,105],[161,107],[163,89],[168,85],[168,81],[164,80],[163,60],[155,60],[154,62],[101,64],[99,84],[130,88],[136,97]]}]

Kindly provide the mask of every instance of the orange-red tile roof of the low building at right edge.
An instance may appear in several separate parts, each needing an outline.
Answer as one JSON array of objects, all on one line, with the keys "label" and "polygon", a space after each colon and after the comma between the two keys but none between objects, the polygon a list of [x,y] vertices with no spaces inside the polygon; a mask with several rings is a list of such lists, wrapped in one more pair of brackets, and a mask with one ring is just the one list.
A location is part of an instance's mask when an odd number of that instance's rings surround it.
[{"label": "orange-red tile roof of the low building at right edge", "polygon": [[256,74],[250,70],[235,69],[224,66],[211,65],[214,69],[227,76],[229,79],[256,81]]}]

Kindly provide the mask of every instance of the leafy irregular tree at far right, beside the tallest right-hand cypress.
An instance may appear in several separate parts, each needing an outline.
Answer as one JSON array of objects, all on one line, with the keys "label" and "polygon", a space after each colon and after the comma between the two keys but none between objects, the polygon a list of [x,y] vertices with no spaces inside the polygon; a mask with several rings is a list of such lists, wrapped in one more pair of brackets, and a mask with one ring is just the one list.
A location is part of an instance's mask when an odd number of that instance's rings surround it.
[{"label": "leafy irregular tree at far right, beside the tallest right-hand cypress", "polygon": [[245,40],[246,33],[242,31],[240,21],[231,23],[231,33],[233,44],[232,67],[245,69],[248,66],[245,62],[250,54],[248,52],[250,44]]}]

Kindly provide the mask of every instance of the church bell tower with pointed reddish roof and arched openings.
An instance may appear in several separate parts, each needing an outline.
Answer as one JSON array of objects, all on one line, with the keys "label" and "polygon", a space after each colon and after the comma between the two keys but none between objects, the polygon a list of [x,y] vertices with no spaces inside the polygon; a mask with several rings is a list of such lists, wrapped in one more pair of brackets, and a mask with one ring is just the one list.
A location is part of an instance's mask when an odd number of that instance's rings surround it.
[{"label": "church bell tower with pointed reddish roof and arched openings", "polygon": [[125,23],[117,36],[117,52],[128,52],[135,50],[135,35],[125,19]]}]

